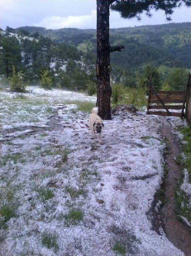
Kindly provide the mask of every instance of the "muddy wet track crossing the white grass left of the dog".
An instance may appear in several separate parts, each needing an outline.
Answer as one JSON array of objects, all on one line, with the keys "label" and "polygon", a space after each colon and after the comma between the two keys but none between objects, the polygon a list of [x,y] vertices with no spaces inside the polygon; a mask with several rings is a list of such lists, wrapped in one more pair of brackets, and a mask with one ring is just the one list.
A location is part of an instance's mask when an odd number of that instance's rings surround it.
[{"label": "muddy wet track crossing the white grass left of the dog", "polygon": [[[63,108],[63,107],[62,107]],[[59,108],[61,109],[61,108]],[[16,128],[10,128],[10,129],[4,129],[1,130],[1,134],[5,137],[4,140],[0,141],[1,143],[4,143],[6,141],[15,140],[17,136],[9,136],[9,134],[17,132],[17,131],[25,131],[27,129],[31,129],[32,131],[27,132],[25,134],[22,134],[22,137],[29,137],[31,135],[34,135],[38,132],[46,132],[46,131],[60,131],[63,129],[63,126],[59,125],[57,122],[57,119],[59,119],[58,116],[58,109],[56,109],[53,113],[53,115],[49,118],[49,121],[47,122],[47,127],[38,127],[35,125],[31,126],[22,126],[22,127],[16,127]]]}]

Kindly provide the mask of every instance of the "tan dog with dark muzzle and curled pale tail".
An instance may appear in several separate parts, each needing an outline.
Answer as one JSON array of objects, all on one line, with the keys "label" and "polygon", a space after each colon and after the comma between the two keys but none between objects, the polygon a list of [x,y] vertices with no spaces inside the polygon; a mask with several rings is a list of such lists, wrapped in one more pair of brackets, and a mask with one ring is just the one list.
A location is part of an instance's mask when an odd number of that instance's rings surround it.
[{"label": "tan dog with dark muzzle and curled pale tail", "polygon": [[104,124],[101,120],[101,117],[98,116],[98,107],[94,107],[92,109],[89,122],[90,122],[90,130],[92,131],[92,137],[96,138],[95,131],[97,131],[97,133],[99,134],[98,142],[101,143],[101,132],[104,127]]}]

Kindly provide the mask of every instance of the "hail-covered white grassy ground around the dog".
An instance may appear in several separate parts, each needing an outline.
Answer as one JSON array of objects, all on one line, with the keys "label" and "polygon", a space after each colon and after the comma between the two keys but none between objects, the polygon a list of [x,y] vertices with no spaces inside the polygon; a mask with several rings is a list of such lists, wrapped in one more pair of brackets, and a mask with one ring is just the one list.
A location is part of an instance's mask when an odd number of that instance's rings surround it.
[{"label": "hail-covered white grassy ground around the dog", "polygon": [[[26,126],[30,132],[32,125],[46,126],[51,108],[62,129],[44,127],[14,139],[7,131],[11,140],[2,142],[0,152],[0,204],[14,208],[15,215],[0,231],[1,254],[115,255],[119,243],[126,255],[184,255],[147,217],[163,176],[161,117],[121,110],[104,121],[99,144],[91,138],[89,114],[76,105],[95,97],[28,89],[25,98],[0,93],[2,128]],[[47,190],[50,199],[42,195]],[[72,209],[83,213],[79,222],[67,219]],[[56,237],[57,250],[43,245],[44,232]]]}]

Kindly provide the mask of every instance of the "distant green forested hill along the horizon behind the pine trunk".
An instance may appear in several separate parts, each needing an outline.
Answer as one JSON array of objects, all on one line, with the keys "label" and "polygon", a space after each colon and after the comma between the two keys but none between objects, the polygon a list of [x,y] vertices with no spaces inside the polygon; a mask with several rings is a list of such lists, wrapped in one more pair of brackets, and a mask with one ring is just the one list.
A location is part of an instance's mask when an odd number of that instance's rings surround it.
[{"label": "distant green forested hill along the horizon behind the pine trunk", "polygon": [[[16,31],[21,29],[31,34],[37,31],[56,42],[73,44],[84,56],[96,62],[95,29],[52,30],[26,26],[16,28]],[[121,52],[111,54],[111,64],[118,68],[135,70],[147,63],[154,66],[191,66],[191,22],[110,29],[110,44],[125,45]]]}]

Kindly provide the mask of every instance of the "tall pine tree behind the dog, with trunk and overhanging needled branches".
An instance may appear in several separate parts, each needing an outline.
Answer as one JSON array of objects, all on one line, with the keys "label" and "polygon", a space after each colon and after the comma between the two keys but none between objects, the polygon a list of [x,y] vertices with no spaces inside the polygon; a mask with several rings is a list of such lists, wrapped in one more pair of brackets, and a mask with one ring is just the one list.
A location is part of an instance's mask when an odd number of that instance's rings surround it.
[{"label": "tall pine tree behind the dog, with trunk and overhanging needled branches", "polygon": [[141,19],[143,13],[151,17],[152,10],[163,10],[167,20],[171,20],[173,10],[181,4],[191,7],[191,0],[97,0],[97,105],[98,114],[102,119],[111,119],[110,52],[121,51],[124,48],[123,45],[110,46],[110,8],[118,11],[125,19]]}]

